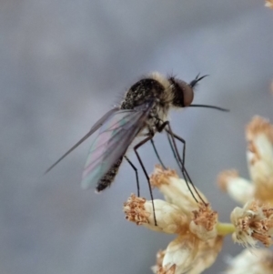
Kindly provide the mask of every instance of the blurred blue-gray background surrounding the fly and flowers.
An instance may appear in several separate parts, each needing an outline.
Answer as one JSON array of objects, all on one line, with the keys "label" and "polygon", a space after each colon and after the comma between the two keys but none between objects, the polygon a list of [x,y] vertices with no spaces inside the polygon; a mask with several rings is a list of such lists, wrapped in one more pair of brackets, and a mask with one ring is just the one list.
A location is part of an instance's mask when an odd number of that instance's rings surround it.
[{"label": "blurred blue-gray background surrounding the fly and flowers", "polygon": [[[195,103],[231,110],[171,113],[174,131],[187,140],[191,178],[228,221],[237,205],[217,189],[217,174],[236,167],[248,178],[244,127],[257,114],[273,120],[272,24],[262,0],[0,1],[0,273],[151,273],[157,250],[175,236],[125,220],[123,202],[136,193],[126,162],[100,195],[79,184],[92,138],[43,174],[155,70],[186,81],[208,74]],[[167,138],[155,141],[177,168]],[[140,154],[151,173],[152,148]],[[227,237],[206,273],[225,269],[227,255],[240,250]]]}]

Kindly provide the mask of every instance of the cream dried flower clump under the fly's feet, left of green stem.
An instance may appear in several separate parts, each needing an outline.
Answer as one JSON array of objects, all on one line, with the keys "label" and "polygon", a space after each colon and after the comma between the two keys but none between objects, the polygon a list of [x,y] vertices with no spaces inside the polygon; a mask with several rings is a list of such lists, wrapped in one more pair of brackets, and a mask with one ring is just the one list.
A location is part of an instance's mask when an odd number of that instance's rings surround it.
[{"label": "cream dried flower clump under the fly's feet, left of green stem", "polygon": [[157,166],[150,181],[166,198],[166,201],[154,200],[157,226],[151,201],[131,195],[124,211],[126,218],[137,225],[177,234],[167,249],[157,255],[153,271],[157,274],[201,273],[215,261],[222,247],[223,237],[217,233],[217,212],[201,192],[198,193],[206,204],[197,203],[185,181],[178,178],[174,170]]}]

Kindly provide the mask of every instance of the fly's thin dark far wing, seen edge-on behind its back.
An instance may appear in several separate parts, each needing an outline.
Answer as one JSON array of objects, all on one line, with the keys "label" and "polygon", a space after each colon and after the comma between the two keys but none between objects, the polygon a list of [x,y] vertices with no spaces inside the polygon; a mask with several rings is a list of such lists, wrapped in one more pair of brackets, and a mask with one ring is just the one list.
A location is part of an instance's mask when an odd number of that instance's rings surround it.
[{"label": "fly's thin dark far wing, seen edge-on behind its back", "polygon": [[82,137],[73,147],[71,147],[68,151],[66,151],[66,153],[60,157],[58,160],[56,160],[56,162],[51,166],[51,167],[48,167],[45,171],[45,173],[47,173],[48,171],[50,171],[53,167],[55,167],[64,157],[66,157],[70,152],[72,152],[76,147],[78,147],[81,143],[83,143],[86,138],[90,137],[99,127],[101,127],[104,122],[106,121],[106,119],[108,117],[110,117],[111,115],[113,115],[115,112],[118,111],[118,107],[115,107],[111,110],[109,110],[103,117],[101,117],[97,122],[96,124],[91,127],[91,129],[89,130],[89,132],[84,136]]}]

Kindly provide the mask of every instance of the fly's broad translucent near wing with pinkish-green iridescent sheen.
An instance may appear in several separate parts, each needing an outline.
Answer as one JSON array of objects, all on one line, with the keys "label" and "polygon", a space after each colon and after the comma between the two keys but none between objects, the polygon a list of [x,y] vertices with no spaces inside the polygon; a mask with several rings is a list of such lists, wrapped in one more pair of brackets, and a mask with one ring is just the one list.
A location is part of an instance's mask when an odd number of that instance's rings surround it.
[{"label": "fly's broad translucent near wing with pinkish-green iridescent sheen", "polygon": [[83,172],[82,187],[96,185],[120,157],[126,154],[138,132],[145,126],[154,101],[116,111],[100,128],[92,144]]}]

